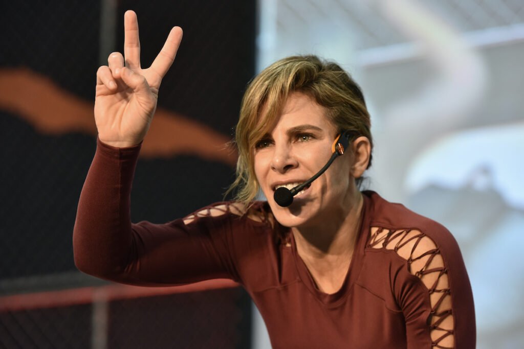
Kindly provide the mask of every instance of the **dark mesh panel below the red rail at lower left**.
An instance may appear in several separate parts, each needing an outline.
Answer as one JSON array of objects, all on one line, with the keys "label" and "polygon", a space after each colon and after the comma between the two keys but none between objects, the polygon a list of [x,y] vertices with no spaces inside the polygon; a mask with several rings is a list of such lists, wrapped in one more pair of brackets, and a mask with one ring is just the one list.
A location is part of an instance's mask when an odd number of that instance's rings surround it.
[{"label": "dark mesh panel below the red rail at lower left", "polygon": [[68,306],[60,305],[53,292],[42,296],[48,303],[41,308],[1,306],[0,347],[249,346],[249,298],[237,287],[130,299],[105,299],[95,292],[91,303]]}]

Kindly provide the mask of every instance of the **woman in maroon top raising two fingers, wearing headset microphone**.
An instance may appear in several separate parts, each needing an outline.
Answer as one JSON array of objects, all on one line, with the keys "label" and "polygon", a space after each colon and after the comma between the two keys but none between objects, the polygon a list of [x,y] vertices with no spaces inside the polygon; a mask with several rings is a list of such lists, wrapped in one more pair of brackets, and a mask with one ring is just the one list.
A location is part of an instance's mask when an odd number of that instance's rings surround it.
[{"label": "woman in maroon top raising two fingers, wearing headset microphone", "polygon": [[[97,151],[74,229],[75,263],[133,285],[231,278],[249,292],[278,348],[473,348],[471,286],[440,224],[358,190],[372,137],[359,87],[315,57],[276,62],[250,83],[236,129],[236,201],[166,224],[130,223],[134,168],[162,76],[182,32],[173,28],[149,69],[138,23],[125,14],[125,64],[97,73]],[[273,198],[328,161],[341,132],[346,154],[289,207]],[[267,202],[253,201],[261,189]]]}]

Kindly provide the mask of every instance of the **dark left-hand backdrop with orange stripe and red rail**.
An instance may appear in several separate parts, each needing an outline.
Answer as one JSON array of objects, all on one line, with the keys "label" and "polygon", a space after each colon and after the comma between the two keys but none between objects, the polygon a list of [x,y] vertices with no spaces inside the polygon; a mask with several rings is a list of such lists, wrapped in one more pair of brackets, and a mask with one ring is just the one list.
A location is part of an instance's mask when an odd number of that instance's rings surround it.
[{"label": "dark left-hand backdrop with orange stripe and red rail", "polygon": [[249,346],[250,300],[237,287],[97,298],[108,285],[74,266],[74,218],[96,147],[96,70],[123,50],[127,9],[138,14],[143,66],[172,26],[184,30],[140,155],[133,221],[188,215],[222,200],[233,180],[225,144],[255,71],[254,1],[3,2],[0,347]]}]

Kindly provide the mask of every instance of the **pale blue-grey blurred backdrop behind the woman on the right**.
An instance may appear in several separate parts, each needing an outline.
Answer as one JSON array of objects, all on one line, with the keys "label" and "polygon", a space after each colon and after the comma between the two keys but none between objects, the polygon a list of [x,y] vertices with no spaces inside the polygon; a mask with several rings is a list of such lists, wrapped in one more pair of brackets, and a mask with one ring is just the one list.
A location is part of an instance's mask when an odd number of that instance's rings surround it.
[{"label": "pale blue-grey blurred backdrop behind the woman on the right", "polygon": [[[365,188],[455,236],[477,348],[524,347],[524,2],[259,0],[257,69],[340,63],[372,115]],[[269,348],[255,321],[254,348]]]}]

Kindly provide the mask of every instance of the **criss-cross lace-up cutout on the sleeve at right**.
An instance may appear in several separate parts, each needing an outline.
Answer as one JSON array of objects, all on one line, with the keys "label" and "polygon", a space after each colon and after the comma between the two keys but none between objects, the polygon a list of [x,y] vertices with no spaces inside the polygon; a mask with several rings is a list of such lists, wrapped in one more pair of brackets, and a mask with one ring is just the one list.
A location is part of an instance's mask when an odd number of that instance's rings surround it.
[{"label": "criss-cross lace-up cutout on the sleeve at right", "polygon": [[427,288],[431,303],[428,325],[431,345],[454,348],[452,292],[439,247],[418,230],[372,228],[368,247],[395,251],[407,261],[408,271]]}]

